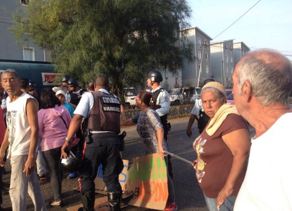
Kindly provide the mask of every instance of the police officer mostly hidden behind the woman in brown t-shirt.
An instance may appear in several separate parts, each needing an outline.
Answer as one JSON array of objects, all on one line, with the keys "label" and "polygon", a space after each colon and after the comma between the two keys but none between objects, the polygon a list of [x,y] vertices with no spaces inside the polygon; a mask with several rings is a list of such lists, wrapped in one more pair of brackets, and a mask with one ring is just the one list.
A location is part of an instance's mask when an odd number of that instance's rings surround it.
[{"label": "police officer mostly hidden behind the woman in brown t-shirt", "polygon": [[[207,78],[204,81],[204,85],[211,81],[215,81],[215,79]],[[201,98],[198,98],[194,101],[194,106],[190,112],[190,117],[189,117],[187,128],[186,128],[186,134],[188,137],[192,135],[191,126],[195,119],[198,121],[198,129],[199,129],[199,133],[201,134],[210,120],[210,117],[208,117],[206,113],[204,112]]]}]

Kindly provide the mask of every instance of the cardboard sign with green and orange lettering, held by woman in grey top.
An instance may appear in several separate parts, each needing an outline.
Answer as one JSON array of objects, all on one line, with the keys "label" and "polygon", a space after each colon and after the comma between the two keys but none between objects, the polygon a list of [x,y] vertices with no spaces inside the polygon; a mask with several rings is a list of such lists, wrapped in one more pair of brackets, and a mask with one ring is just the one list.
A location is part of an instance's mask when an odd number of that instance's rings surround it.
[{"label": "cardboard sign with green and orange lettering, held by woman in grey top", "polygon": [[167,198],[167,169],[159,153],[133,159],[124,193],[133,194],[128,204],[164,210]]}]

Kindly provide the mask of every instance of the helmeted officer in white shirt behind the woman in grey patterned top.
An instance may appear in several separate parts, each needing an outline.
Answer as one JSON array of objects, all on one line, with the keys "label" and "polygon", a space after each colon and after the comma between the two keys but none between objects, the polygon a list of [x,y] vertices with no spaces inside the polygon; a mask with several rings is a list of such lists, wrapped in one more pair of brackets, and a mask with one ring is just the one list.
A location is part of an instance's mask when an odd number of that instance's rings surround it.
[{"label": "helmeted officer in white shirt behind the woman in grey patterned top", "polygon": [[[169,93],[160,85],[162,80],[162,73],[158,70],[154,70],[148,74],[147,85],[152,88],[152,97],[156,99],[157,106],[154,109],[160,116],[164,130],[164,139],[167,141],[167,134],[170,130],[170,123],[167,122],[167,115],[170,109],[170,98]],[[168,173],[169,176],[173,178],[170,155],[168,155]]]}]

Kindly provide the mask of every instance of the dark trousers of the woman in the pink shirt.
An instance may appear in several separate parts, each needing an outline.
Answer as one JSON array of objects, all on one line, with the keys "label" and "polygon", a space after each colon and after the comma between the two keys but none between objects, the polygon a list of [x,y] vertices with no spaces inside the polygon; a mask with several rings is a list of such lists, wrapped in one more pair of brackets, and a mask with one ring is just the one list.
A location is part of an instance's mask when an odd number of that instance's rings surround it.
[{"label": "dark trousers of the woman in the pink shirt", "polygon": [[50,174],[50,182],[54,193],[54,200],[61,200],[63,172],[61,169],[61,147],[42,152],[43,159]]}]

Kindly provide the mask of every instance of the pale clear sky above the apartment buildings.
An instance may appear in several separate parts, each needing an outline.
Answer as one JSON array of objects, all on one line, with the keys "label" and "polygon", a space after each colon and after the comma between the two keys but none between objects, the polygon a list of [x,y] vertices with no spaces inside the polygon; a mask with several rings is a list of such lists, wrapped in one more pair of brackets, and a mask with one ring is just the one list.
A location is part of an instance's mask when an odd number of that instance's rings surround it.
[{"label": "pale clear sky above the apartment buildings", "polygon": [[[197,26],[209,35],[213,39],[211,42],[234,39],[233,42],[242,41],[251,50],[273,48],[292,61],[292,0],[187,2],[192,10],[192,17],[188,22],[191,27]],[[256,4],[257,2],[259,3]],[[247,12],[248,10],[250,11]],[[242,17],[228,28],[240,16]],[[227,30],[223,32],[225,29]],[[221,32],[223,33],[219,35]],[[219,36],[216,37],[217,35]]]}]

